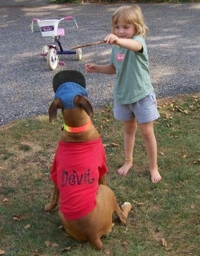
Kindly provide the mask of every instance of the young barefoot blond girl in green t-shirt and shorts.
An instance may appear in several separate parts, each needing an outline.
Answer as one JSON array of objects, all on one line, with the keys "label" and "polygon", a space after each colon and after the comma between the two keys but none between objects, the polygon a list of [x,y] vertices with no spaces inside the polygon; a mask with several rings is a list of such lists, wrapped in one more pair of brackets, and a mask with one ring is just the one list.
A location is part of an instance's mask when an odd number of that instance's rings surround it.
[{"label": "young barefoot blond girl in green t-shirt and shorts", "polygon": [[149,77],[149,62],[143,13],[138,5],[119,7],[112,17],[112,33],[105,41],[112,45],[107,65],[85,64],[87,73],[117,74],[114,87],[114,116],[124,124],[125,162],[118,174],[126,175],[133,166],[133,146],[137,122],[149,159],[151,182],[159,182],[157,142],[153,121],[159,118],[155,92]]}]

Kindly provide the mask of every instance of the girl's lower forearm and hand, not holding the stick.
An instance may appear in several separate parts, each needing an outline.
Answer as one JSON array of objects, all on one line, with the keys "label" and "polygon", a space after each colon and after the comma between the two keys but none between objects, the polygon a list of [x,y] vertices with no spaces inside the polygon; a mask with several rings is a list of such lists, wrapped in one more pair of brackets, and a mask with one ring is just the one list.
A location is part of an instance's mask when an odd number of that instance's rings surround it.
[{"label": "girl's lower forearm and hand, not holding the stick", "polygon": [[101,73],[107,75],[116,74],[115,67],[112,64],[97,65],[94,63],[85,64],[85,71],[87,73]]}]

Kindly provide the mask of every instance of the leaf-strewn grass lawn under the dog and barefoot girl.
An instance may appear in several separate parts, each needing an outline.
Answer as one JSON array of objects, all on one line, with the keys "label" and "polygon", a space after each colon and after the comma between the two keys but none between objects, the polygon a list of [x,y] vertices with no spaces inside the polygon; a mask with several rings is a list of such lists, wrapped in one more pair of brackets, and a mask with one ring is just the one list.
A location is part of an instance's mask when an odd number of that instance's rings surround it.
[{"label": "leaf-strewn grass lawn under the dog and barefoot girl", "polygon": [[[0,255],[7,256],[186,256],[199,255],[199,96],[159,100],[155,122],[159,184],[149,180],[147,156],[139,130],[134,166],[117,175],[123,164],[123,127],[113,119],[112,106],[95,111],[93,122],[107,152],[107,185],[119,205],[133,209],[127,226],[113,215],[113,231],[103,237],[102,251],[65,234],[57,213],[45,213],[53,190],[49,170],[61,134],[62,119],[47,116],[0,127]],[[14,218],[14,219],[13,219]],[[28,226],[27,226],[28,225]],[[167,246],[162,243],[167,241]],[[50,243],[49,243],[50,242]]]}]

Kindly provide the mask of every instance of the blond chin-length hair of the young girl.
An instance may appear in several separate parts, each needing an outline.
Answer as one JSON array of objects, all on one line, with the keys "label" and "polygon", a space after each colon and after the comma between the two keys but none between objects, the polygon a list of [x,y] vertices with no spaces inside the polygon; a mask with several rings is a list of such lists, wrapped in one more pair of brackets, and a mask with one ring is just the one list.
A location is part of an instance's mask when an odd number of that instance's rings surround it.
[{"label": "blond chin-length hair of the young girl", "polygon": [[115,25],[119,19],[123,19],[127,24],[132,24],[135,27],[135,35],[146,37],[149,31],[145,25],[145,19],[139,5],[123,5],[113,13],[112,16],[112,33],[114,33]]}]

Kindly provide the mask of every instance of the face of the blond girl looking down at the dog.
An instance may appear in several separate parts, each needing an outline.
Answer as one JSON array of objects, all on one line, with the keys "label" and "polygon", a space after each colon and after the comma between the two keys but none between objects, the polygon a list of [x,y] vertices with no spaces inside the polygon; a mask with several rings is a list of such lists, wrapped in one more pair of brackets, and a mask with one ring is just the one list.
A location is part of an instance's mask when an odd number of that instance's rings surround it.
[{"label": "face of the blond girl looking down at the dog", "polygon": [[114,33],[119,38],[131,39],[135,35],[135,27],[133,24],[127,24],[123,19],[119,19],[114,25]]}]

